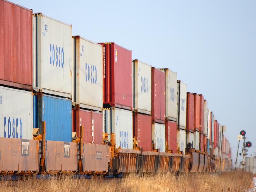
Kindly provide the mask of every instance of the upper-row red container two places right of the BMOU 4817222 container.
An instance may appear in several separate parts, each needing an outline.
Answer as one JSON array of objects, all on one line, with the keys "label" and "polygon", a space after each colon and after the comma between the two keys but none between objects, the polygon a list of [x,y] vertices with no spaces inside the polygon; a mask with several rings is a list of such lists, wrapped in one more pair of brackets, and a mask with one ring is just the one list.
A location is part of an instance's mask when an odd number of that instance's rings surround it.
[{"label": "upper-row red container two places right of the BMOU 4817222 container", "polygon": [[152,67],[152,119],[165,122],[165,73]]}]

